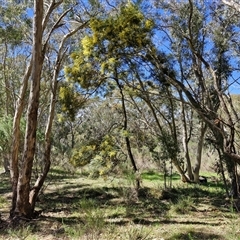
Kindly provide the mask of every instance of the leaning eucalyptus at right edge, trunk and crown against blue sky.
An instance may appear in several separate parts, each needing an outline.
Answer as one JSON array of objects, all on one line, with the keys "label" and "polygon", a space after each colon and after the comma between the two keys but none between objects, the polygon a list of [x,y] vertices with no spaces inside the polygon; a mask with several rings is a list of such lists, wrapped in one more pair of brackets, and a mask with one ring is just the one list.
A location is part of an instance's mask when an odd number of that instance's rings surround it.
[{"label": "leaning eucalyptus at right edge, trunk and crown against blue sky", "polygon": [[[157,4],[165,13],[158,18],[159,31],[166,34],[165,44],[175,62],[181,63],[175,68],[181,70],[182,75],[170,76],[164,72],[166,60],[156,52],[151,54],[152,61],[164,73],[167,82],[182,91],[182,100],[190,104],[211,129],[211,142],[226,161],[233,195],[237,195],[234,165],[240,163],[235,141],[239,119],[229,102],[231,64],[236,59],[231,58],[233,49],[229,43],[235,41],[234,26],[239,16],[233,17],[232,11],[221,3],[208,1],[159,1]],[[161,49],[161,44],[158,48]]]}]

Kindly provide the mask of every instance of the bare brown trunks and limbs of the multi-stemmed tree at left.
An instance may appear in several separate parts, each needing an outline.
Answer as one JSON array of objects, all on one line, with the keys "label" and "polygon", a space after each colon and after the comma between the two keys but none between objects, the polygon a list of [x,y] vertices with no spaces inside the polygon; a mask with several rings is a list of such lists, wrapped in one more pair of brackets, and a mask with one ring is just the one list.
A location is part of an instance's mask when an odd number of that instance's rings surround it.
[{"label": "bare brown trunks and limbs of the multi-stemmed tree at left", "polygon": [[[53,67],[53,79],[51,81],[51,99],[49,107],[49,117],[46,123],[45,130],[45,146],[44,146],[44,159],[43,159],[43,171],[39,175],[35,185],[30,189],[31,172],[33,166],[33,159],[35,155],[35,144],[36,144],[36,130],[38,122],[38,109],[39,109],[39,95],[40,95],[40,80],[43,66],[44,55],[47,51],[47,45],[50,40],[51,34],[56,28],[59,27],[61,20],[71,8],[67,9],[63,14],[60,15],[56,23],[52,26],[52,29],[48,32],[44,43],[42,42],[42,33],[47,27],[48,20],[51,13],[56,9],[63,1],[55,2],[51,1],[49,8],[47,9],[46,15],[43,18],[43,1],[35,1],[34,4],[34,31],[33,31],[33,51],[32,59],[29,67],[26,70],[23,79],[22,89],[20,96],[17,101],[15,109],[15,117],[13,123],[13,147],[12,147],[12,158],[10,162],[11,180],[12,180],[12,207],[10,211],[10,217],[14,216],[25,216],[32,217],[34,213],[35,203],[39,191],[43,186],[46,179],[47,173],[50,168],[50,153],[51,153],[51,130],[54,119],[56,94],[57,94],[57,78],[60,72],[61,63],[67,51],[67,48],[63,50],[66,40],[75,34],[78,30],[84,28],[87,22],[79,25],[74,30],[63,36],[63,39],[59,45],[58,54]],[[24,96],[28,86],[28,80],[31,76],[31,88],[30,96],[28,100],[28,111],[27,111],[27,126],[25,132],[25,143],[24,151],[19,164],[19,141],[20,141],[20,120],[24,109]]]}]

